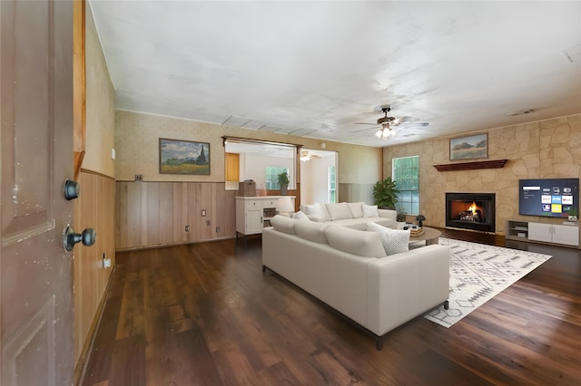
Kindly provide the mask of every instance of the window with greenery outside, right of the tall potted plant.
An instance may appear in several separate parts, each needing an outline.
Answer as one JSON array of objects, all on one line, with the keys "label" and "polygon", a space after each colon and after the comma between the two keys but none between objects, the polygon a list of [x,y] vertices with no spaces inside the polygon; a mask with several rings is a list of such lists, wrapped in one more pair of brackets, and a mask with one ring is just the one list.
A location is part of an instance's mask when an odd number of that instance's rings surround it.
[{"label": "window with greenery outside, right of the tall potted plant", "polygon": [[391,176],[399,190],[398,209],[419,214],[419,156],[392,159]]}]

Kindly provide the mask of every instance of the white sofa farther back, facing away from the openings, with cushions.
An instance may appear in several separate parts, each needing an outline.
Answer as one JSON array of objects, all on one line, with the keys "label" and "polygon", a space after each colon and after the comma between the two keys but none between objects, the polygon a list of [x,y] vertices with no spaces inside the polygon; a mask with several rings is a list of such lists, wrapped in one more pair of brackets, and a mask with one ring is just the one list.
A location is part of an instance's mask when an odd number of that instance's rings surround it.
[{"label": "white sofa farther back, facing away from the openings, with cushions", "polygon": [[316,203],[300,205],[300,212],[311,221],[342,225],[365,230],[366,224],[372,221],[383,227],[396,228],[397,212],[391,209],[378,209],[377,206],[364,202],[341,202],[338,204]]}]

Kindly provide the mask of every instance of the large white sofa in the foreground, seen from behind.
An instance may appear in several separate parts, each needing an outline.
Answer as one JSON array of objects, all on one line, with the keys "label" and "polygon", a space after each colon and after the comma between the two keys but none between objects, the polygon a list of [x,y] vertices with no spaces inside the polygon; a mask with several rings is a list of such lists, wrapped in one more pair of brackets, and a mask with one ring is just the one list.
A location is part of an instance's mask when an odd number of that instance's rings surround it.
[{"label": "large white sofa in the foreground, seen from behind", "polygon": [[281,216],[271,225],[262,233],[262,271],[358,323],[378,350],[389,331],[440,304],[448,307],[448,246],[387,256],[376,232]]}]

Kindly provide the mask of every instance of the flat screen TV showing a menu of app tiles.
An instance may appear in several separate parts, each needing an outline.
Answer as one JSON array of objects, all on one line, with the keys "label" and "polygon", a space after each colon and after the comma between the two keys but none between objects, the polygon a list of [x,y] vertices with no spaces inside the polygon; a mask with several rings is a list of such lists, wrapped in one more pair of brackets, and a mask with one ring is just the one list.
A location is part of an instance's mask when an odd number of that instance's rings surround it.
[{"label": "flat screen TV showing a menu of app tiles", "polygon": [[567,217],[579,208],[579,179],[520,179],[518,188],[521,215]]}]

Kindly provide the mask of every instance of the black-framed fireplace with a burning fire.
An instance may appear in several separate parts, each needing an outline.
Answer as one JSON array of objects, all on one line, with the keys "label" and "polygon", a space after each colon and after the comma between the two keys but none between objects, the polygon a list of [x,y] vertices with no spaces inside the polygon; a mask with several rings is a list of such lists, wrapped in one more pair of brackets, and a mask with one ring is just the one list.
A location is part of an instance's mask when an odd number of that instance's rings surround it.
[{"label": "black-framed fireplace with a burning fire", "polygon": [[496,231],[494,193],[446,193],[446,227]]}]

